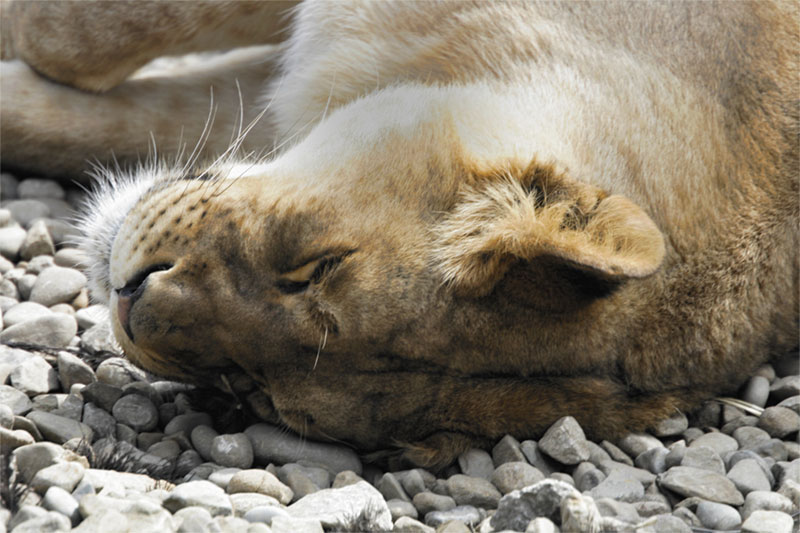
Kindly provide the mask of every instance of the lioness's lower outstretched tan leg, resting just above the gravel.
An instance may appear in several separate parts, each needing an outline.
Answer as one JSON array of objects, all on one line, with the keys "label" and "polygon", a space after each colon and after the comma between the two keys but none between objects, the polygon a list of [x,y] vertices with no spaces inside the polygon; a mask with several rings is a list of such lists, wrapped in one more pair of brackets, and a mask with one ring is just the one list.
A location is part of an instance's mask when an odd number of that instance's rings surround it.
[{"label": "lioness's lower outstretched tan leg, resting just above the gravel", "polygon": [[[55,177],[86,179],[89,161],[123,164],[152,154],[174,156],[181,144],[203,138],[198,154],[225,151],[238,131],[261,109],[259,101],[273,71],[265,48],[235,50],[204,59],[200,68],[135,76],[105,93],[93,94],[38,76],[21,61],[0,68],[0,150],[3,165]],[[274,47],[271,47],[274,48]],[[243,105],[244,103],[244,105]],[[248,105],[249,104],[249,105]],[[273,144],[268,120],[259,121],[242,144],[260,151]]]}]

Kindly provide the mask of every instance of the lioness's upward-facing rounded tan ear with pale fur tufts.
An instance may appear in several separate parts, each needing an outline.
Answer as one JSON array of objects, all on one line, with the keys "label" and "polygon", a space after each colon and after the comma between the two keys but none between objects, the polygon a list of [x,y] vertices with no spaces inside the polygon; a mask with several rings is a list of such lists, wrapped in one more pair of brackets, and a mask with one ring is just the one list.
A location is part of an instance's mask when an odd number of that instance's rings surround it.
[{"label": "lioness's upward-facing rounded tan ear with pale fur tufts", "polygon": [[436,228],[436,261],[459,294],[491,292],[514,264],[555,260],[602,281],[658,270],[664,240],[623,196],[531,165],[483,178]]}]

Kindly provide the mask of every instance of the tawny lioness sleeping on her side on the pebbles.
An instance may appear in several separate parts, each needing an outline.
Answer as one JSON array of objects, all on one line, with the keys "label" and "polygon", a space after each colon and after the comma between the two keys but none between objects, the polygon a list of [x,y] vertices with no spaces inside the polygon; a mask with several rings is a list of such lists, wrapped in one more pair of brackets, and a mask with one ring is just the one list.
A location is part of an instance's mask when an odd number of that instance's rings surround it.
[{"label": "tawny lioness sleeping on her side on the pebbles", "polygon": [[613,437],[797,345],[797,6],[11,4],[3,157],[201,139],[83,223],[152,372],[429,467],[564,415]]}]

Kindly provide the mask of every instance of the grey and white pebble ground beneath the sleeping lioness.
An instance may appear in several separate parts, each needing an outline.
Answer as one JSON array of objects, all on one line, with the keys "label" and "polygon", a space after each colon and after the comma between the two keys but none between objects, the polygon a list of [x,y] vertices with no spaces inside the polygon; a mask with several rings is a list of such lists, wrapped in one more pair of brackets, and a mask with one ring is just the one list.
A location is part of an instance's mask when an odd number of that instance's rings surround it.
[{"label": "grey and white pebble ground beneath the sleeping lioness", "polygon": [[747,404],[653,434],[592,442],[566,417],[437,475],[383,472],[131,366],[68,244],[81,193],[8,174],[0,192],[0,533],[798,530],[796,353]]}]

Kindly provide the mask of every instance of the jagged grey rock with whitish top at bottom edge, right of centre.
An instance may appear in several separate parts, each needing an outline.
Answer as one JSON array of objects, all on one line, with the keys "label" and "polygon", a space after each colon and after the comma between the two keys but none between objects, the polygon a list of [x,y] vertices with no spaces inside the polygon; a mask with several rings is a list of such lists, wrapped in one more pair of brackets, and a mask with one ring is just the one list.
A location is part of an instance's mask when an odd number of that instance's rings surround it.
[{"label": "jagged grey rock with whitish top at bottom edge, right of centre", "polygon": [[572,486],[553,479],[515,490],[500,499],[491,525],[496,531],[524,531],[528,523],[537,517],[560,524],[561,500],[569,495],[578,495],[578,492]]}]

